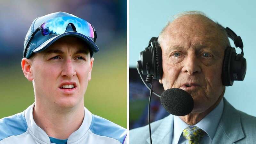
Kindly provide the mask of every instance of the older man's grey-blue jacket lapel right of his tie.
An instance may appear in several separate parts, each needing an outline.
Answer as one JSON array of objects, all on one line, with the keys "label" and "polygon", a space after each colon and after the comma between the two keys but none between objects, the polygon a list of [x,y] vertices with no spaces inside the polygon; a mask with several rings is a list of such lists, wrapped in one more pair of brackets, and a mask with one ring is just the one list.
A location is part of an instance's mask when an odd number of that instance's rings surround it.
[{"label": "older man's grey-blue jacket lapel right of his tie", "polygon": [[224,109],[212,143],[235,143],[244,138],[238,111],[224,100]]}]

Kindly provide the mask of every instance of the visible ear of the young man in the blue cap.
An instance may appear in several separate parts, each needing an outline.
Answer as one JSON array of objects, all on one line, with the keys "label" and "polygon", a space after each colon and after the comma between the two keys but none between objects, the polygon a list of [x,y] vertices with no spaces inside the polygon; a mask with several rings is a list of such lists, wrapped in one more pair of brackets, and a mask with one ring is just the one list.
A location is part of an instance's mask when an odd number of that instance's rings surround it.
[{"label": "visible ear of the young man in the blue cap", "polygon": [[31,72],[31,65],[32,65],[32,60],[30,59],[27,59],[27,58],[23,58],[21,60],[21,68],[22,68],[22,71],[24,73],[24,76],[30,81],[32,82],[33,81],[33,75],[32,75],[32,72]]}]

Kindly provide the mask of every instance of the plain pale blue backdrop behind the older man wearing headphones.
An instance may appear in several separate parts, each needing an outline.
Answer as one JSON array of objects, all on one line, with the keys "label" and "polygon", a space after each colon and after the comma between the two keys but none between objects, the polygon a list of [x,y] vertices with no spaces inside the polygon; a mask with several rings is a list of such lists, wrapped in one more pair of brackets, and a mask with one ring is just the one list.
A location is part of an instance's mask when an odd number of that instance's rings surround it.
[{"label": "plain pale blue backdrop behind the older man wearing headphones", "polygon": [[[233,86],[226,87],[224,97],[236,109],[256,116],[255,5],[256,1],[253,0],[130,0],[130,68],[135,68],[139,53],[145,50],[152,36],[159,35],[167,21],[172,20],[173,15],[184,11],[202,11],[212,20],[219,22],[223,27],[231,28],[241,36],[244,43],[244,57],[247,60],[246,76],[244,81],[235,81]],[[233,42],[230,42],[234,47]],[[236,51],[241,52],[239,48],[236,48]],[[130,93],[131,91],[130,89]],[[130,118],[135,118],[136,116],[133,116],[135,112],[131,110],[132,103],[130,96]]]}]

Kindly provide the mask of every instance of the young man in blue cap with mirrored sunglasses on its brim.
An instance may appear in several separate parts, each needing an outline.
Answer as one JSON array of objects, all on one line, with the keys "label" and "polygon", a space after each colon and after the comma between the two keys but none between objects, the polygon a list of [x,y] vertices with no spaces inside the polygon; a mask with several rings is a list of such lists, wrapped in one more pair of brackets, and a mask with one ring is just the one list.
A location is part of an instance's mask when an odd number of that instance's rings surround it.
[{"label": "young man in blue cap with mirrored sunglasses on its brim", "polygon": [[0,144],[122,144],[126,130],[84,107],[96,31],[75,15],[56,12],[28,30],[21,67],[35,103],[0,120]]}]

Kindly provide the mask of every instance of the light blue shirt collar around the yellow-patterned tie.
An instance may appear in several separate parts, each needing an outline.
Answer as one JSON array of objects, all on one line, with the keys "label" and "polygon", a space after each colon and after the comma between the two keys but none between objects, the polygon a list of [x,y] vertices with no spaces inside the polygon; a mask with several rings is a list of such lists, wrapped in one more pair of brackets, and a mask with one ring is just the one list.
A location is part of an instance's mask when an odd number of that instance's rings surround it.
[{"label": "light blue shirt collar around the yellow-patterned tie", "polygon": [[[216,129],[218,127],[220,117],[223,112],[223,99],[221,99],[220,103],[216,108],[214,108],[209,114],[207,114],[201,121],[199,121],[196,126],[204,130],[204,132],[207,133],[207,135],[210,137],[210,139],[213,139],[213,136],[216,132]],[[180,119],[179,116],[173,116],[174,121],[174,135],[173,135],[173,142],[174,144],[177,144],[180,136],[185,128],[187,128],[188,124],[186,124],[183,120]]]}]

